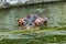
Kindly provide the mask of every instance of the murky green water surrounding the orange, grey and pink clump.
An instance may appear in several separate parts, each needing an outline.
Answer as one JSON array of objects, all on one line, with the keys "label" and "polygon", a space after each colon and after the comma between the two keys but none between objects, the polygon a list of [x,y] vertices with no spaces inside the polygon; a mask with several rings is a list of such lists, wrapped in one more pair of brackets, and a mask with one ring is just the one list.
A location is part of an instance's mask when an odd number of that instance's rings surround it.
[{"label": "murky green water surrounding the orange, grey and pink clump", "polygon": [[[38,10],[38,12],[36,11]],[[48,25],[37,31],[19,30],[16,20],[29,13],[48,18]],[[66,2],[42,3],[0,10],[0,44],[46,44],[66,42]],[[61,43],[58,43],[61,44]]]}]

